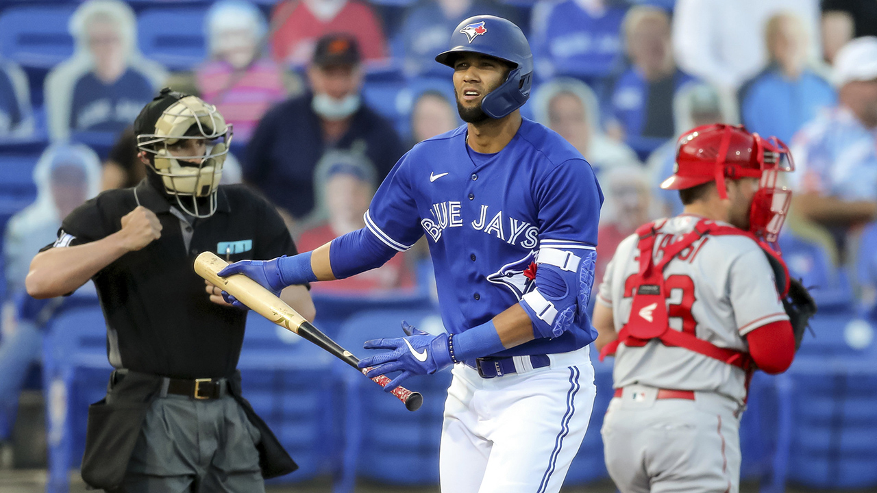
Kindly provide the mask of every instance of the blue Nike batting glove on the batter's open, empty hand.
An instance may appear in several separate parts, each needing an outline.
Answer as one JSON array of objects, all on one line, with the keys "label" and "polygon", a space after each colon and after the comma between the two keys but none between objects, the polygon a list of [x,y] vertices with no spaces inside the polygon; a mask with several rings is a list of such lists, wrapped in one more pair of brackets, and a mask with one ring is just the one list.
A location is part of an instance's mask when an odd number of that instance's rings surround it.
[{"label": "blue Nike batting glove on the batter's open, empty hand", "polygon": [[389,349],[360,360],[360,368],[373,367],[367,376],[386,375],[394,371],[402,374],[390,381],[384,390],[396,389],[413,375],[431,375],[450,367],[451,352],[448,350],[447,334],[432,335],[421,331],[403,320],[402,330],[408,337],[367,340],[366,349]]}]

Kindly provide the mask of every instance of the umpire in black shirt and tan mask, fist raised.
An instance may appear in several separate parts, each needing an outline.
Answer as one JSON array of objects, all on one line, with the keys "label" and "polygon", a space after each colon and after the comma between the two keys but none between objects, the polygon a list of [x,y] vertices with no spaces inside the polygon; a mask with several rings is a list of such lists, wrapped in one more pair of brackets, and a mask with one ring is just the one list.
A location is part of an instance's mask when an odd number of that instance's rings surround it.
[{"label": "umpire in black shirt and tan mask, fist raised", "polygon": [[[296,254],[275,209],[219,185],[232,126],[210,104],[170,89],[134,121],[146,178],[70,213],[37,254],[32,297],[93,279],[116,368],[89,407],[82,478],[108,491],[264,491],[296,464],[240,393],[246,312],[196,275],[197,254],[229,261]],[[281,297],[312,319],[305,286]]]}]

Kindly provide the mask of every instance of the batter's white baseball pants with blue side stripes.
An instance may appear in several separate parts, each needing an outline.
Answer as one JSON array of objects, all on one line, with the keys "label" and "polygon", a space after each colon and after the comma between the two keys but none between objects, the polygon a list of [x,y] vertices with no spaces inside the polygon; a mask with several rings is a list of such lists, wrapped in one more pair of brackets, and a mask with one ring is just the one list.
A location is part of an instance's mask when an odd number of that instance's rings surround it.
[{"label": "batter's white baseball pants with blue side stripes", "polygon": [[481,378],[453,368],[439,471],[442,493],[557,493],[594,406],[588,347],[545,368]]}]

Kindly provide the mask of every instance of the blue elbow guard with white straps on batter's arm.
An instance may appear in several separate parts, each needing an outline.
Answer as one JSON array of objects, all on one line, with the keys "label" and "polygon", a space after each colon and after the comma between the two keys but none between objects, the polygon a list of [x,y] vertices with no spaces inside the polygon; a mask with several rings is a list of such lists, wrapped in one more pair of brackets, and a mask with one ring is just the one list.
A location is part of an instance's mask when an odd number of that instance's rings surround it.
[{"label": "blue elbow guard with white straps on batter's arm", "polygon": [[536,337],[560,336],[587,310],[596,252],[586,249],[577,253],[545,247],[539,250],[536,289],[521,299]]}]

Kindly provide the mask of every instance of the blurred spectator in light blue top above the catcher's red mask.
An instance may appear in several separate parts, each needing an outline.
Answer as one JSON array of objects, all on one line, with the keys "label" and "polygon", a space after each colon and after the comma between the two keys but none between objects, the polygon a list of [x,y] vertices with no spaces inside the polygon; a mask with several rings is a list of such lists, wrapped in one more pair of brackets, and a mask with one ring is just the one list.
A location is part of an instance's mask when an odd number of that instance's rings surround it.
[{"label": "blurred spectator in light blue top above the catcher's red mask", "polygon": [[837,94],[807,67],[809,39],[801,19],[774,15],[765,27],[765,44],[770,62],[740,88],[740,116],[750,131],[790,142],[819,110],[835,104]]}]

